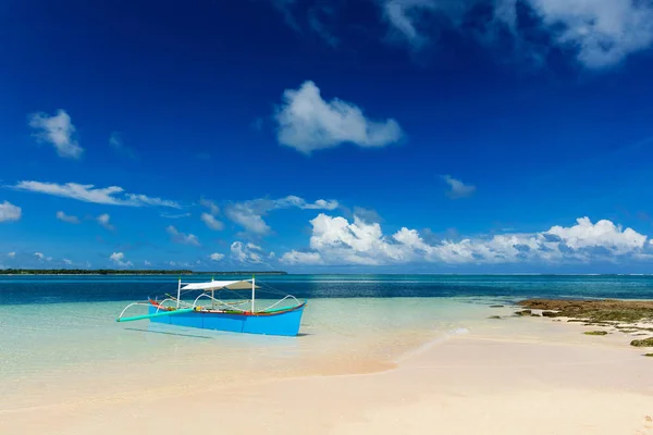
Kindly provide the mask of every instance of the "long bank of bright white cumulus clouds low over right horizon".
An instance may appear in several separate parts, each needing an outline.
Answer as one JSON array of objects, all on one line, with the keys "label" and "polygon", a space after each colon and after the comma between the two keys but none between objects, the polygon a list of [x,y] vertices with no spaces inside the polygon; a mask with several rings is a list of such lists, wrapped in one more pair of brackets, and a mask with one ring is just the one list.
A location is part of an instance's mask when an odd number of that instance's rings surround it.
[{"label": "long bank of bright white cumulus clouds low over right horizon", "polygon": [[517,262],[591,262],[624,258],[653,258],[646,236],[602,220],[593,224],[580,217],[569,227],[553,226],[532,234],[506,234],[460,241],[424,241],[416,229],[401,228],[384,235],[378,223],[354,216],[319,214],[312,221],[309,252],[282,256],[288,264],[397,264],[433,262],[489,264]]}]

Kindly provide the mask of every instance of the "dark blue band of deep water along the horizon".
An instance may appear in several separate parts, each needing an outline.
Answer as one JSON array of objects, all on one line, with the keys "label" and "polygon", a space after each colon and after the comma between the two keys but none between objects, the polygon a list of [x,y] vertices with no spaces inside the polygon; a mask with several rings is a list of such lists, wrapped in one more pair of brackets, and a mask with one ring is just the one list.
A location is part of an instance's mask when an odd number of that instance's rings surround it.
[{"label": "dark blue band of deep water along the horizon", "polygon": [[[250,276],[242,276],[249,278]],[[183,282],[210,279],[182,276]],[[215,276],[231,279],[232,276]],[[237,277],[235,277],[237,278]],[[0,276],[0,304],[144,300],[176,290],[176,276]],[[653,276],[633,275],[270,275],[301,298],[653,298]]]}]

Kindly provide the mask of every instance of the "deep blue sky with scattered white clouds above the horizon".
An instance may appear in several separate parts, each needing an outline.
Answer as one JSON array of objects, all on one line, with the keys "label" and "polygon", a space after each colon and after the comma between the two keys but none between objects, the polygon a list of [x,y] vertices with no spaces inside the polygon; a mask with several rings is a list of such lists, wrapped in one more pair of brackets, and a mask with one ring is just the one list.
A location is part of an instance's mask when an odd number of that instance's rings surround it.
[{"label": "deep blue sky with scattered white clouds above the horizon", "polygon": [[0,269],[652,271],[651,0],[0,20]]}]

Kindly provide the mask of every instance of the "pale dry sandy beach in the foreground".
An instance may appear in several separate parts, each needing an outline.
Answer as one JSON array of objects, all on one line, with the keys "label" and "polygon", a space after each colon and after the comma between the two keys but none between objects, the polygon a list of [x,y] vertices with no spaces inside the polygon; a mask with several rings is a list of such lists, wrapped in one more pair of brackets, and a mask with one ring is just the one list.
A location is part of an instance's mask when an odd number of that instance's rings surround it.
[{"label": "pale dry sandy beach in the foreground", "polygon": [[341,360],[322,374],[221,385],[152,376],[159,387],[140,393],[98,390],[4,410],[0,427],[3,435],[653,434],[653,359],[626,334],[587,330],[544,318],[488,320],[368,373],[358,364],[359,373],[331,374],[346,372]]}]

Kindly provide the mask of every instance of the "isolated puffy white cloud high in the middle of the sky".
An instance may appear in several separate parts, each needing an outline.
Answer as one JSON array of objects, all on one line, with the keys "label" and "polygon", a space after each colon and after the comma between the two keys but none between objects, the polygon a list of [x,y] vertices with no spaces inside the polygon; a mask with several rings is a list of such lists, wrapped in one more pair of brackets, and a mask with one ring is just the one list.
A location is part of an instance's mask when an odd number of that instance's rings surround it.
[{"label": "isolated puffy white cloud high in the middle of the sky", "polygon": [[350,102],[324,101],[312,82],[305,82],[298,89],[286,89],[283,100],[275,113],[278,140],[306,154],[345,142],[384,147],[403,136],[395,120],[373,121]]}]

